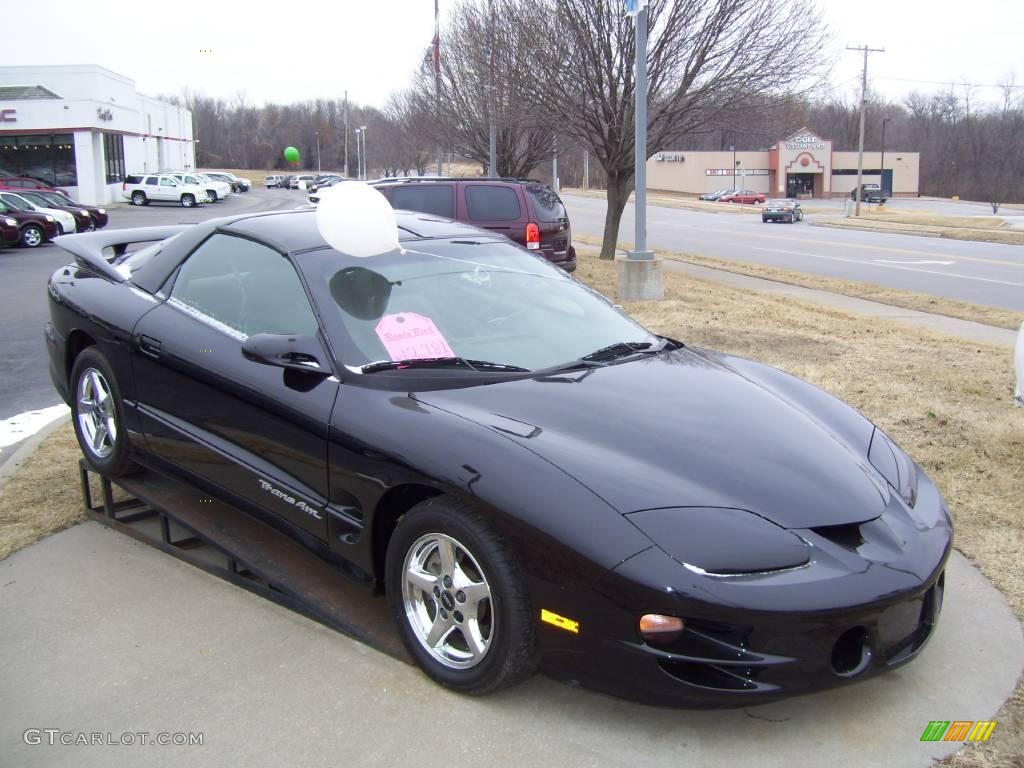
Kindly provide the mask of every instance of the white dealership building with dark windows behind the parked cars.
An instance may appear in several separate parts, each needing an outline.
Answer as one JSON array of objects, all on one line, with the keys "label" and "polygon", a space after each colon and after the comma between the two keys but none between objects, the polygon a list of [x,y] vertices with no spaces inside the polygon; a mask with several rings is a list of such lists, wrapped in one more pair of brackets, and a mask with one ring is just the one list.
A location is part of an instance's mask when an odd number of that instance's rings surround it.
[{"label": "white dealership building with dark windows behind the parked cars", "polygon": [[196,165],[191,112],[102,67],[0,67],[0,177],[85,204],[121,199],[125,172]]}]

